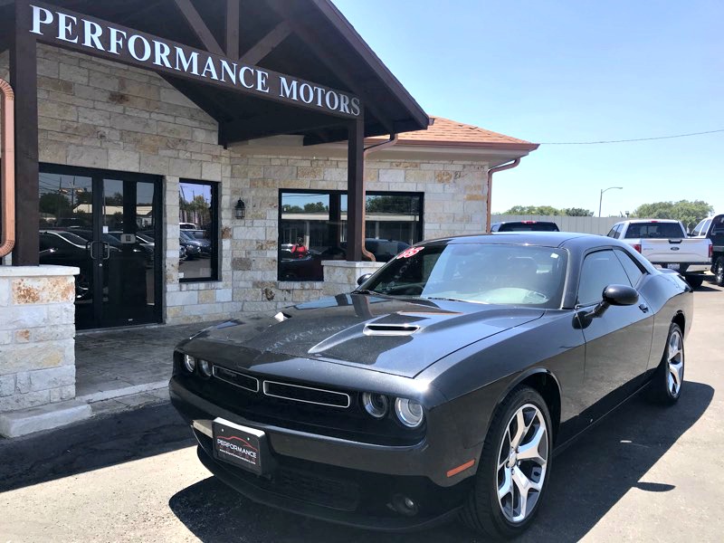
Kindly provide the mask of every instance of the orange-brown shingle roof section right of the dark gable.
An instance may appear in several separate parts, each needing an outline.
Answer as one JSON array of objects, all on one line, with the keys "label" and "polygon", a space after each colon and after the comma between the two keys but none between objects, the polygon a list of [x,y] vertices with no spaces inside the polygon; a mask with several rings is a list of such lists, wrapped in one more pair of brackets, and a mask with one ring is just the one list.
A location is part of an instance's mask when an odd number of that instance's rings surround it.
[{"label": "orange-brown shingle roof section right of the dark gable", "polygon": [[[525,139],[511,138],[498,132],[481,129],[456,120],[430,117],[433,125],[426,130],[404,132],[399,135],[400,145],[425,145],[465,148],[500,148],[532,151],[537,143]],[[377,140],[378,138],[374,138]]]}]

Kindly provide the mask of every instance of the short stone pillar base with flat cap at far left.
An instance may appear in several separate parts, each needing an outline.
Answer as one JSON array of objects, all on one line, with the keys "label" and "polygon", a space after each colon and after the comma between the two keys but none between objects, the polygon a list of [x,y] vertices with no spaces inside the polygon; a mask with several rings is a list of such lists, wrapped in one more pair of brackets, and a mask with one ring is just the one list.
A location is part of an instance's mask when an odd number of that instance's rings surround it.
[{"label": "short stone pillar base with flat cap at far left", "polygon": [[78,268],[0,266],[0,434],[6,437],[90,416],[75,398]]}]

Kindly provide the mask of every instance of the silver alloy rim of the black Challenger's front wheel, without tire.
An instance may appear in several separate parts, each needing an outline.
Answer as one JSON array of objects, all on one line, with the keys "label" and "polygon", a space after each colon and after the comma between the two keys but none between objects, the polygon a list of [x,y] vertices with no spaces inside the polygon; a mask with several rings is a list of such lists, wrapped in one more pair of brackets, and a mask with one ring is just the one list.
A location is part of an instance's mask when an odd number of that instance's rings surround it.
[{"label": "silver alloy rim of the black Challenger's front wheel, without tire", "polygon": [[548,465],[548,426],[536,405],[510,418],[498,453],[498,503],[510,522],[527,519],[536,508]]}]

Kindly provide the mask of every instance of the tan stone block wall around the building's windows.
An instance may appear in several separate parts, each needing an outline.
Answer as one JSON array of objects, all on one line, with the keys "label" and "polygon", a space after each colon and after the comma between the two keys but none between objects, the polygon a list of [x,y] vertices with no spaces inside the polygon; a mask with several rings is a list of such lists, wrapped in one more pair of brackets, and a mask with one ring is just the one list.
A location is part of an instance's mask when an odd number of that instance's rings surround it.
[{"label": "tan stone block wall around the building's windows", "polygon": [[[214,119],[153,72],[47,45],[37,52],[41,161],[164,179],[165,322],[276,310],[324,293],[322,282],[277,281],[279,189],[346,190],[345,153],[224,149]],[[7,65],[7,53],[0,55],[0,77]],[[424,193],[429,239],[485,229],[487,170],[482,158],[403,160],[384,151],[367,160],[365,176],[370,191]],[[220,281],[179,281],[181,178],[221,183]],[[244,220],[233,216],[240,197]]]}]

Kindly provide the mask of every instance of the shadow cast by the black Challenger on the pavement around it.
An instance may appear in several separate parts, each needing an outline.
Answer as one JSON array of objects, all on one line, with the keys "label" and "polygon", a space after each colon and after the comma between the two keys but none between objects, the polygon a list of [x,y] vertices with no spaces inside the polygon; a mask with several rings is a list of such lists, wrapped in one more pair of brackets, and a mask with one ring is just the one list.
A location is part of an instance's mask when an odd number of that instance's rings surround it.
[{"label": "shadow cast by the black Challenger on the pavement around it", "polygon": [[[675,491],[668,481],[640,479],[699,420],[710,405],[714,389],[687,382],[683,393],[679,403],[668,408],[650,405],[636,396],[557,455],[538,519],[519,541],[577,541],[630,489]],[[256,504],[214,477],[177,492],[168,505],[202,541],[483,540],[459,524],[410,534],[348,529]]]}]

